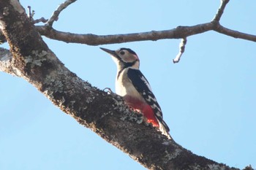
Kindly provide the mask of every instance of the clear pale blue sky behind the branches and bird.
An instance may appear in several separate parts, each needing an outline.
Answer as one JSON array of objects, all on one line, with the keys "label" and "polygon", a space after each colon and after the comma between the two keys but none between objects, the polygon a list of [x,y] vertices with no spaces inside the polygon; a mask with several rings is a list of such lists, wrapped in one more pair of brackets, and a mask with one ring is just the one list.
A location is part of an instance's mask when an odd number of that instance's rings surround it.
[{"label": "clear pale blue sky behind the branches and bird", "polygon": [[[21,0],[35,18],[62,1]],[[233,0],[223,26],[256,34],[256,1]],[[77,1],[54,28],[79,34],[125,34],[210,21],[219,1]],[[209,31],[189,36],[180,63],[178,39],[88,46],[45,39],[72,72],[97,88],[114,89],[116,66],[99,50],[129,47],[162,107],[173,139],[228,166],[256,168],[256,45]],[[3,47],[7,47],[4,45]],[[145,169],[61,112],[25,80],[0,72],[0,169]]]}]

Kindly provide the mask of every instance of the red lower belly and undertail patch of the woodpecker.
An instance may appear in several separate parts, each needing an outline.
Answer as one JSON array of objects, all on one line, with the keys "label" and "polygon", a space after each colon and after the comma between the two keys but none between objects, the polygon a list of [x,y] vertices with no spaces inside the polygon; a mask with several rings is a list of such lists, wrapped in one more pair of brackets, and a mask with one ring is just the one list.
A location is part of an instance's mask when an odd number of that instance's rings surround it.
[{"label": "red lower belly and undertail patch of the woodpecker", "polygon": [[143,116],[146,117],[148,123],[152,123],[153,126],[159,128],[159,123],[150,105],[138,100],[138,98],[132,98],[131,96],[125,96],[124,101],[135,111],[141,112]]}]

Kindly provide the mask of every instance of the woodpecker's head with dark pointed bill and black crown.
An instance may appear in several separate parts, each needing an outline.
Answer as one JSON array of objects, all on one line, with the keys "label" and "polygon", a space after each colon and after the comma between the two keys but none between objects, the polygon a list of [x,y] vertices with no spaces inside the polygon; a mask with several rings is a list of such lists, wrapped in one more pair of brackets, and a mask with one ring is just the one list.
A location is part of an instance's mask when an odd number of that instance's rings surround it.
[{"label": "woodpecker's head with dark pointed bill and black crown", "polygon": [[138,55],[129,48],[120,48],[118,50],[108,50],[106,48],[100,48],[101,50],[109,53],[113,61],[115,61],[118,70],[132,67],[133,69],[139,69],[140,60]]}]

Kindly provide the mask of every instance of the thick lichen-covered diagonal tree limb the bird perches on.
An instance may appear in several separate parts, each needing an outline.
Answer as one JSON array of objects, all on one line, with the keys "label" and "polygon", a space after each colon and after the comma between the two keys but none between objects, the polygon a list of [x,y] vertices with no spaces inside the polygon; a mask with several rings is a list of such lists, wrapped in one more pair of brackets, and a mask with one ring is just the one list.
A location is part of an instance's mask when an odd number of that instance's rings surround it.
[{"label": "thick lichen-covered diagonal tree limb the bird perches on", "polygon": [[[142,123],[119,96],[108,95],[70,72],[52,53],[18,1],[0,0],[1,31],[10,44],[1,70],[18,70],[62,111],[148,169],[231,169],[185,150]],[[8,57],[7,57],[8,55]],[[3,59],[4,58],[4,59]],[[12,69],[8,69],[12,68]],[[14,71],[13,73],[15,73]]]}]

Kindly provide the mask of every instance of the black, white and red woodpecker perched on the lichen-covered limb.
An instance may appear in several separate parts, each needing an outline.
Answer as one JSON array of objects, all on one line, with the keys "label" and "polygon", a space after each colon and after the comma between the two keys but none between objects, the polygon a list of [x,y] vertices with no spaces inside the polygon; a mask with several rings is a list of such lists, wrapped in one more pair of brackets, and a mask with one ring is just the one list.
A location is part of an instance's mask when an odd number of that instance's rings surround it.
[{"label": "black, white and red woodpecker perched on the lichen-covered limb", "polygon": [[116,93],[124,98],[132,109],[143,114],[144,120],[151,123],[170,139],[169,128],[162,118],[162,110],[151,90],[146,77],[140,72],[138,55],[129,48],[108,50],[117,66]]}]

